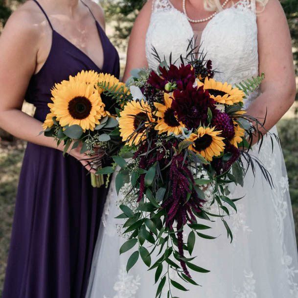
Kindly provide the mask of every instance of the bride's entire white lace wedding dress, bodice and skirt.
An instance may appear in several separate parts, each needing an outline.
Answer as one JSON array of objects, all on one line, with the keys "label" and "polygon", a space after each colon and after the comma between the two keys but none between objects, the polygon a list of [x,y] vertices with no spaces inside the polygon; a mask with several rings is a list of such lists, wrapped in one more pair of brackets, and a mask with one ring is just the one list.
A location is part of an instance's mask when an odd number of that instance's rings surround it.
[{"label": "bride's entire white lace wedding dress, bodice and skirt", "polygon": [[[155,0],[147,32],[148,64],[156,69],[152,55],[155,46],[160,56],[173,61],[185,53],[193,31],[186,17],[169,0]],[[238,83],[258,74],[257,24],[255,0],[242,0],[234,7],[217,14],[202,34],[202,44],[213,67],[221,72],[215,79]],[[253,94],[248,106],[258,95]],[[276,133],[276,128],[272,129]],[[202,287],[186,286],[190,291],[175,293],[180,298],[298,298],[298,256],[289,184],[285,163],[277,143],[272,152],[265,138],[257,156],[270,171],[274,189],[257,172],[245,178],[245,186],[234,187],[232,196],[245,195],[237,202],[238,213],[228,220],[234,240],[227,239],[221,221],[213,223],[216,240],[197,239],[193,255],[196,263],[211,272],[196,274]],[[132,252],[119,256],[125,239],[119,237],[115,219],[120,211],[116,206],[114,181],[107,198],[102,225],[94,252],[87,298],[154,298],[155,271],[147,271],[141,260],[126,273],[125,266]],[[208,223],[209,224],[209,223]],[[175,275],[173,275],[175,279]],[[179,281],[179,279],[177,279]],[[166,293],[166,292],[165,292]],[[166,298],[166,294],[162,298]]]}]

